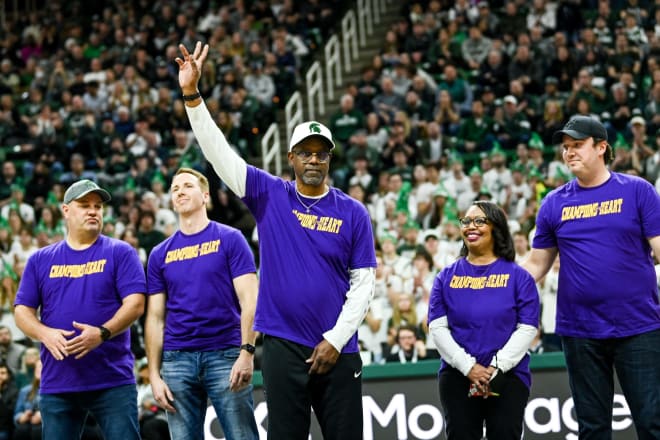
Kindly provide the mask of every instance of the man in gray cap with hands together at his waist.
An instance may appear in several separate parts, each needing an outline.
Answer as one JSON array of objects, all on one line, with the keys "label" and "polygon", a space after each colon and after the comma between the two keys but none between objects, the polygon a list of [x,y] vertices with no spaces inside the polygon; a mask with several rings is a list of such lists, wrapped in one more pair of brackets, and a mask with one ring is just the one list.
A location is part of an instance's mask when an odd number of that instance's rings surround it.
[{"label": "man in gray cap with hands together at his waist", "polygon": [[91,180],[66,190],[66,239],[28,259],[16,294],[16,325],[41,343],[44,438],[80,438],[90,412],[106,439],[140,438],[128,329],[146,280],[135,249],[101,234],[109,200]]}]

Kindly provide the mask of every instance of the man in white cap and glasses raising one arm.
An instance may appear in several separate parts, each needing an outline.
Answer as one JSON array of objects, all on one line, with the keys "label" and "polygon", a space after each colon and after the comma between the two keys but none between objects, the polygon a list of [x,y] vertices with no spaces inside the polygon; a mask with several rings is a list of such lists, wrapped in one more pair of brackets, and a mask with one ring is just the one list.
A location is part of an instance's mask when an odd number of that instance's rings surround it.
[{"label": "man in white cap and glasses raising one arm", "polygon": [[289,142],[295,181],[249,166],[229,146],[197,90],[209,47],[181,45],[179,85],[206,158],[257,221],[261,256],[255,330],[264,334],[268,438],[307,439],[310,407],[327,439],[362,438],[357,328],[374,290],[366,208],[326,181],[334,142],[316,121]]}]

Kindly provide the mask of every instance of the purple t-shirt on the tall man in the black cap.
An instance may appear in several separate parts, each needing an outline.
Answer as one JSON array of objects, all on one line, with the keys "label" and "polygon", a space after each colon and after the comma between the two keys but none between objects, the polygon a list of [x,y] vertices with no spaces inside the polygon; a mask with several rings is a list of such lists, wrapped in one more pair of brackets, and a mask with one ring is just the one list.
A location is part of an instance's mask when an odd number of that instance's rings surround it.
[{"label": "purple t-shirt on the tall man in the black cap", "polygon": [[548,194],[533,247],[559,249],[560,335],[620,338],[660,328],[648,238],[660,235],[660,195],[638,177],[611,173],[604,184],[576,180]]}]

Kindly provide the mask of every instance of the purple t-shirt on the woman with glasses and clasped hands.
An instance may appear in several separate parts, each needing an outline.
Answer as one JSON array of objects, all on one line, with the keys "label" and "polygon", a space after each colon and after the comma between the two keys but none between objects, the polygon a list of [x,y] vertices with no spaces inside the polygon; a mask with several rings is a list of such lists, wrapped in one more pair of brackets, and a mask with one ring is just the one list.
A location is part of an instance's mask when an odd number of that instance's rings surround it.
[{"label": "purple t-shirt on the woman with glasses and clasped hands", "polygon": [[[460,258],[436,277],[428,320],[447,316],[458,345],[479,364],[488,366],[518,324],[538,327],[539,307],[534,279],[516,263],[499,258],[486,266],[475,266]],[[449,367],[443,361],[440,371]],[[513,371],[531,386],[529,354]]]}]

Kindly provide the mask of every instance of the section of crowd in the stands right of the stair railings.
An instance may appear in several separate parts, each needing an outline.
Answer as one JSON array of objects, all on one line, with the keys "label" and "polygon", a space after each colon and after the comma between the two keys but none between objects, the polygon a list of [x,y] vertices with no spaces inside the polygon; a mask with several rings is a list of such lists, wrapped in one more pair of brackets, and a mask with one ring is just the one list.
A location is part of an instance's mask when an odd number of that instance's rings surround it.
[{"label": "section of crowd in the stands right of the stair railings", "polygon": [[[610,169],[660,191],[660,2],[409,2],[382,51],[329,118],[334,184],[363,200],[379,242],[376,299],[360,337],[397,360],[401,324],[434,353],[425,328],[435,274],[460,251],[469,205],[508,214],[518,260],[539,203],[572,178],[552,134],[573,115],[603,122]],[[660,265],[657,266],[660,268]],[[540,283],[541,327],[554,334],[557,261]],[[660,280],[660,270],[658,270]],[[416,353],[407,344],[408,358]]]}]

